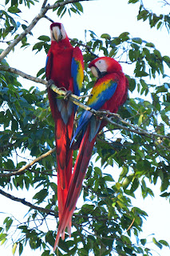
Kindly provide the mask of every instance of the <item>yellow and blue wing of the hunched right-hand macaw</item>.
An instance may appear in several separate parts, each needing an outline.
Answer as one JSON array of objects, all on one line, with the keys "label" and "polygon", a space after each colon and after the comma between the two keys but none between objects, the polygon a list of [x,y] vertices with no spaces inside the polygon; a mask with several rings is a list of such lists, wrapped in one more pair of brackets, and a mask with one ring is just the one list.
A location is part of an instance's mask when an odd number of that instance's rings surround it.
[{"label": "yellow and blue wing of the hunched right-hand macaw", "polygon": [[117,90],[117,84],[118,78],[114,74],[99,79],[93,87],[91,92],[93,96],[89,98],[87,105],[94,110],[100,110],[105,102],[113,97],[113,94]]}]

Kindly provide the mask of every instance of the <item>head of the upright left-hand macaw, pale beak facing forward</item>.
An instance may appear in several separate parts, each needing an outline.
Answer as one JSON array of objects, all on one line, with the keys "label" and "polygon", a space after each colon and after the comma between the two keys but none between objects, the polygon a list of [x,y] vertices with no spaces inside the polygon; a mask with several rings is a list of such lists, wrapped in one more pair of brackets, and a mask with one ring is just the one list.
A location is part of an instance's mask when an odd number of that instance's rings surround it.
[{"label": "head of the upright left-hand macaw, pale beak facing forward", "polygon": [[61,23],[53,22],[50,26],[51,40],[59,42],[67,38],[65,28]]}]

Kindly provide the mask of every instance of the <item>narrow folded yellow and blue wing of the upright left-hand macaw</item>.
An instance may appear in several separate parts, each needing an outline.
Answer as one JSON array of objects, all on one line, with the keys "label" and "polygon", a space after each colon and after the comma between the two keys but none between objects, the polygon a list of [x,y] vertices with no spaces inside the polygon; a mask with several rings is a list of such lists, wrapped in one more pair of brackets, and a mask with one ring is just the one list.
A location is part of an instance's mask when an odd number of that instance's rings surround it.
[{"label": "narrow folded yellow and blue wing of the upright left-hand macaw", "polygon": [[78,47],[73,49],[71,63],[71,75],[73,77],[73,94],[80,95],[84,78],[84,62],[81,50]]}]

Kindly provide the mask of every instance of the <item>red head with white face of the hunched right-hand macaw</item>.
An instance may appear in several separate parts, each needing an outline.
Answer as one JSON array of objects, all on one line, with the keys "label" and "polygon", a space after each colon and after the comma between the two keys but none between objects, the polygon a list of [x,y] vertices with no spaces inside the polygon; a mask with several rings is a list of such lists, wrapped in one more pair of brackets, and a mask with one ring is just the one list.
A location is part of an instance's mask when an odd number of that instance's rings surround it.
[{"label": "red head with white face of the hunched right-hand macaw", "polygon": [[121,65],[114,58],[100,57],[89,63],[89,68],[96,78],[102,78],[105,74],[122,71]]}]

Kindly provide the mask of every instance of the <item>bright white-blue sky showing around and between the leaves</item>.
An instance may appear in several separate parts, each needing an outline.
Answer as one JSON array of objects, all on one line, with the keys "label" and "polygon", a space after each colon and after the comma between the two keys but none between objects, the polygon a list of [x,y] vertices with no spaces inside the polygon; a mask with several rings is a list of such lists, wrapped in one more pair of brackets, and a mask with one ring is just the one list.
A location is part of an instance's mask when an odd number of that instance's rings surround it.
[{"label": "bright white-blue sky showing around and between the leaves", "polygon": [[[3,1],[4,2],[4,1]],[[54,1],[49,1],[50,4],[53,4]],[[160,8],[161,3],[157,3],[155,0],[145,0],[145,7],[151,8],[153,11],[160,13],[168,13],[170,8],[163,7]],[[42,1],[41,1],[42,4]],[[132,34],[132,37],[140,37],[148,42],[153,42],[157,50],[160,50],[162,55],[170,56],[170,38],[168,31],[166,29],[156,30],[153,28],[150,30],[148,22],[137,22],[136,15],[138,14],[139,5],[129,4],[128,0],[114,1],[114,0],[97,0],[93,2],[83,2],[84,14],[79,16],[78,14],[73,14],[70,18],[69,14],[65,14],[61,20],[57,18],[57,15],[50,11],[47,15],[56,22],[62,22],[65,26],[65,30],[69,38],[78,38],[85,42],[85,30],[93,30],[98,36],[101,36],[103,33],[108,33],[112,37],[118,36],[122,32],[128,31]],[[38,14],[40,10],[39,4],[36,4],[35,7],[31,7],[30,10],[27,8],[22,8],[23,14],[21,17],[26,19],[29,23],[32,19]],[[162,5],[163,6],[163,5]],[[19,21],[19,20],[18,20]],[[45,34],[49,35],[49,21],[42,19],[38,22],[38,25],[34,28],[34,38],[38,38],[40,35]],[[35,42],[34,38],[30,38],[30,41]],[[1,45],[0,45],[1,48]],[[35,54],[35,51],[32,52],[32,47],[27,50],[17,50],[16,48],[14,53],[10,53],[7,61],[10,63],[10,66],[22,70],[27,74],[32,74],[36,76],[38,70],[45,66],[45,52],[41,54]],[[129,65],[122,65],[125,74],[131,74]],[[20,79],[23,86],[32,86],[33,82]],[[40,85],[39,88],[45,89],[44,86]],[[115,173],[115,179],[118,177],[118,172],[114,168],[109,168],[112,173]],[[151,186],[150,186],[151,187]],[[148,220],[144,222],[143,234],[140,235],[140,238],[147,238],[151,234],[155,234],[154,237],[159,239],[164,239],[170,243],[170,205],[168,200],[160,198],[160,184],[156,187],[151,187],[155,193],[155,198],[146,198],[144,201],[141,199],[140,192],[136,194],[136,201],[134,200],[134,206],[139,206],[148,213]],[[24,198],[31,202],[32,193],[22,194],[22,191],[13,191],[13,194]],[[0,196],[1,208],[0,212],[11,212],[17,218],[23,218],[26,214],[28,207],[22,206],[18,202],[11,202],[10,199]],[[3,218],[2,215],[0,215]],[[0,218],[0,222],[1,222]],[[152,238],[152,236],[151,236]],[[150,239],[151,240],[151,239]],[[151,247],[151,245],[148,245]],[[159,250],[158,247],[153,246],[157,251],[152,252],[153,256],[168,256],[170,255],[170,250],[165,248]],[[24,250],[23,256],[39,256],[42,253],[38,253],[38,250],[31,251]],[[0,255],[12,256],[11,247],[0,246]],[[15,254],[18,256],[18,253]]]}]

